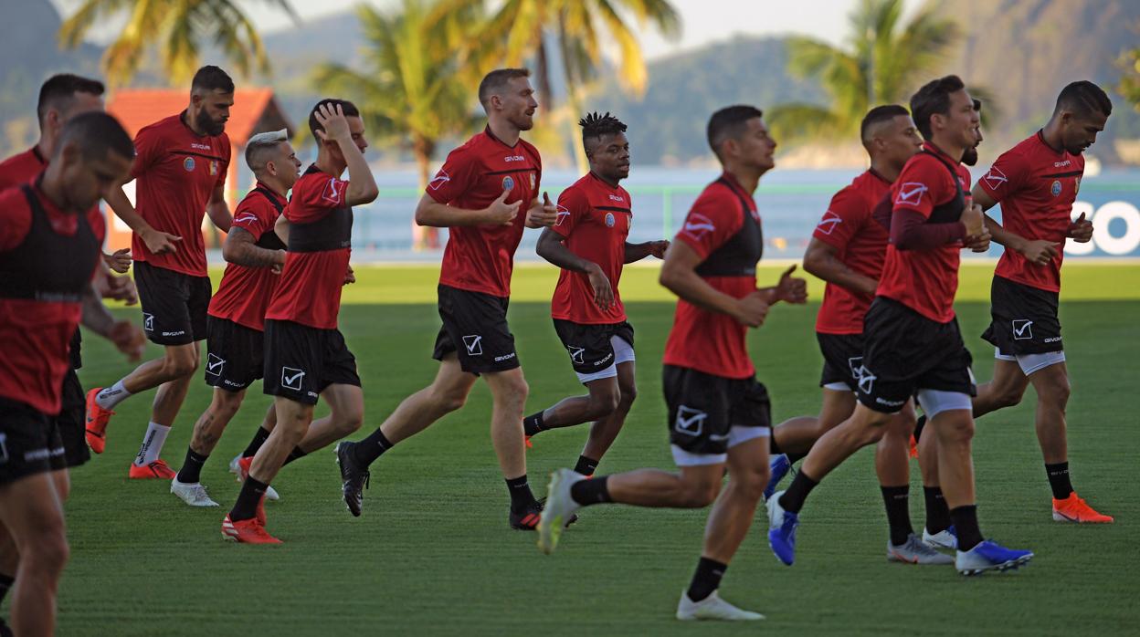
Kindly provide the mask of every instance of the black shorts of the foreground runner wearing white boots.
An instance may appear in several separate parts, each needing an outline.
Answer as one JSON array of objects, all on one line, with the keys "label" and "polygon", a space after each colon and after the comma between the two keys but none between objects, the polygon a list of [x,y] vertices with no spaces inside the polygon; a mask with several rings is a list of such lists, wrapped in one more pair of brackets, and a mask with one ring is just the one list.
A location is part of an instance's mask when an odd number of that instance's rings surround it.
[{"label": "black shorts of the foreground runner wearing white boots", "polygon": [[662,389],[669,408],[669,442],[675,447],[675,459],[685,455],[722,456],[733,446],[734,438],[740,438],[732,431],[734,427],[751,430],[742,438],[748,440],[767,435],[772,426],[768,390],[755,377],[725,378],[666,365]]}]

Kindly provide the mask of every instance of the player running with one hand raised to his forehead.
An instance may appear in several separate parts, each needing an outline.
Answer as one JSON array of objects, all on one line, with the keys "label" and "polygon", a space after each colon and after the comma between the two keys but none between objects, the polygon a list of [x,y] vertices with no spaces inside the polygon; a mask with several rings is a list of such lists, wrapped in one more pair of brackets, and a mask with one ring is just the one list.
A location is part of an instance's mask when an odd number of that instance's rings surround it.
[{"label": "player running with one hand raised to his forehead", "polygon": [[[238,542],[280,544],[264,526],[261,503],[269,483],[306,449],[355,432],[364,419],[356,358],[336,328],[336,315],[352,253],[352,206],[376,198],[376,181],[364,158],[364,120],[352,103],[320,100],[309,114],[309,130],[317,161],[293,185],[277,221],[288,226],[288,250],[266,311],[262,386],[275,397],[277,424],[243,471],[242,491],[221,523],[222,537]],[[345,170],[349,181],[341,179]],[[314,422],[318,397],[332,413]]]}]

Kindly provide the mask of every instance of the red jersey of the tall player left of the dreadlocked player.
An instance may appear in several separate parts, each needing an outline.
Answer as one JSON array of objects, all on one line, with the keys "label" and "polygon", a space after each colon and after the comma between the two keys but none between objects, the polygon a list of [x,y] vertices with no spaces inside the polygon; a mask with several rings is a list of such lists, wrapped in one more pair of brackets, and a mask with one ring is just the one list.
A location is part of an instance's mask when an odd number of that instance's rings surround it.
[{"label": "red jersey of the tall player left of the dreadlocked player", "polygon": [[519,140],[507,146],[490,129],[472,137],[447,156],[427,183],[427,195],[441,204],[482,210],[511,190],[506,203],[522,202],[510,226],[448,228],[439,283],[492,296],[511,295],[514,251],[522,239],[527,210],[538,196],[543,161],[538,149]]}]

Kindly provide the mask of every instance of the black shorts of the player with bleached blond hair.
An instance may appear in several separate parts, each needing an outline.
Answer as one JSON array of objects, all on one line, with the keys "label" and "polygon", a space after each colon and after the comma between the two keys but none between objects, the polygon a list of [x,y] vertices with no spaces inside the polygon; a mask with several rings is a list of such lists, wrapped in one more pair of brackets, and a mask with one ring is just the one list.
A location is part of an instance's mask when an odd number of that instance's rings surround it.
[{"label": "black shorts of the player with bleached blond hair", "polygon": [[229,319],[206,319],[206,384],[244,391],[264,369],[264,334]]}]

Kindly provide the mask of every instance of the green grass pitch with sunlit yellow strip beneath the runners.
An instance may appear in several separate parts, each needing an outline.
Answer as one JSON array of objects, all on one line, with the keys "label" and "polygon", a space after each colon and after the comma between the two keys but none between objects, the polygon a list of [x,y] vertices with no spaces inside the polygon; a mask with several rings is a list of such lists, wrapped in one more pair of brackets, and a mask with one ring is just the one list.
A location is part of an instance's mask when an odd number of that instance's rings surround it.
[{"label": "green grass pitch with sunlit yellow strip beneath the runners", "polygon": [[[979,379],[992,368],[992,350],[977,337],[988,321],[991,271],[964,268],[958,304]],[[435,276],[425,267],[361,267],[360,283],[347,289],[341,329],[366,394],[366,424],[355,438],[435,374]],[[549,320],[555,276],[553,268],[524,267],[514,277],[510,320],[531,387],[528,413],[580,391]],[[777,276],[779,269],[762,269],[760,283]],[[250,392],[206,464],[203,483],[222,508],[203,511],[185,506],[164,482],[127,480],[149,414],[147,393],[119,407],[107,452],[73,473],[59,634],[1134,635],[1140,266],[1068,266],[1065,280],[1074,483],[1117,522],[1078,528],[1051,521],[1028,392],[1021,406],[979,420],[974,446],[983,531],[1035,550],[1024,571],[964,579],[946,567],[888,564],[886,515],[872,452],[864,449],[812,496],[796,566],[771,555],[766,521],[758,516],[722,591],[767,614],[766,622],[682,624],[673,612],[697,562],[707,513],[594,507],[563,536],[557,553],[539,554],[534,534],[506,525],[482,384],[462,411],[373,467],[363,517],[344,509],[333,454],[321,450],[274,483],[282,500],[267,507],[269,528],[286,544],[231,545],[219,533],[239,487],[227,464],[249,441],[267,397],[260,387]],[[775,308],[750,336],[776,422],[819,408],[813,325],[821,292],[813,284],[813,303]],[[622,295],[637,329],[641,395],[600,472],[668,468],[659,366],[673,304],[651,268],[627,270]],[[136,309],[121,312],[138,317]],[[112,383],[130,369],[90,335],[83,358],[85,386]],[[163,456],[176,468],[206,390],[194,383],[166,442]],[[585,435],[578,427],[536,439],[529,473],[539,496],[549,471],[572,466]],[[911,513],[921,528],[917,466],[912,477]]]}]

